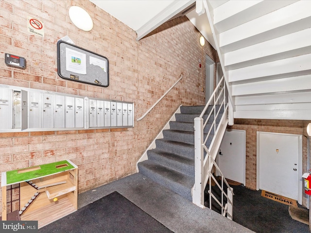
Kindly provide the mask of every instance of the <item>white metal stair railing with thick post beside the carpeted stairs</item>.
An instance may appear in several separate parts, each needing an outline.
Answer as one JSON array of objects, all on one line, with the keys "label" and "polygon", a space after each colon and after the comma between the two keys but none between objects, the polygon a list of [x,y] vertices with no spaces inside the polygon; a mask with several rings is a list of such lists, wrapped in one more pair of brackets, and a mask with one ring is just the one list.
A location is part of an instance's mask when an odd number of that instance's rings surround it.
[{"label": "white metal stair railing with thick post beside the carpeted stairs", "polygon": [[[220,86],[223,86],[223,88],[220,89]],[[204,207],[204,189],[209,181],[209,208],[212,209],[211,201],[213,198],[221,206],[221,214],[232,220],[233,189],[229,186],[223,173],[220,171],[215,162],[226,126],[228,124],[228,100],[230,101],[230,98],[227,97],[225,78],[222,77],[210,99],[207,101],[201,115],[194,119],[195,177],[192,191],[192,202],[198,206]],[[203,118],[207,115],[206,112],[208,108],[210,109],[210,113],[204,121]],[[222,117],[220,117],[221,112],[223,112]],[[210,129],[205,134],[204,129],[207,127],[207,123],[211,121],[211,116],[213,116],[214,119],[211,122]],[[214,134],[212,138],[211,133]],[[208,146],[207,142],[210,142]],[[204,153],[206,153],[205,157]],[[217,169],[218,174],[220,174],[221,184],[219,184],[214,177],[212,172],[213,169]],[[217,200],[211,191],[211,179],[213,179],[218,188],[221,190],[221,200]],[[227,193],[224,191],[224,183],[227,186]],[[225,204],[224,197],[227,200]]]}]

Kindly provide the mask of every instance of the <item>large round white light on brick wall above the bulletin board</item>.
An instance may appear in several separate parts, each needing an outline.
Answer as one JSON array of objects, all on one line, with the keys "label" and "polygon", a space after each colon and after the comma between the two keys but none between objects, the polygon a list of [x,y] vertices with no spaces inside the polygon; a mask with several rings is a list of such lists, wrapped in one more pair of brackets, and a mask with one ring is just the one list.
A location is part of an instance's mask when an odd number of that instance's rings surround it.
[{"label": "large round white light on brick wall above the bulletin board", "polygon": [[91,31],[93,28],[93,20],[86,12],[79,6],[71,6],[69,8],[69,17],[71,22],[83,31]]}]

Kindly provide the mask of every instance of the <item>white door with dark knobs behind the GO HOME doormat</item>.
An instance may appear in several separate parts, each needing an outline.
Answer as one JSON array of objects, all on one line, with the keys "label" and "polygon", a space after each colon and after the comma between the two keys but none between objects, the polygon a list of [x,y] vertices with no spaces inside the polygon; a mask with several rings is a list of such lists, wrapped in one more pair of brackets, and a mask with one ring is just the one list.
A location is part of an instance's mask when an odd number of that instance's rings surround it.
[{"label": "white door with dark knobs behind the GO HOME doormat", "polygon": [[302,136],[257,132],[257,140],[259,189],[299,201]]}]

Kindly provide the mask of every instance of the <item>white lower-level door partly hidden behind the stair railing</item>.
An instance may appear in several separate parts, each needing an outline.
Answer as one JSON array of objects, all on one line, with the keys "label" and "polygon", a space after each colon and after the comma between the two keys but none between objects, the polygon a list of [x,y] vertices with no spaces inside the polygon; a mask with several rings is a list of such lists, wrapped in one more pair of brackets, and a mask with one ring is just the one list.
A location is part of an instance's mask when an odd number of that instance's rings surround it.
[{"label": "white lower-level door partly hidden behind the stair railing", "polygon": [[245,185],[245,130],[225,130],[218,166],[226,179]]}]

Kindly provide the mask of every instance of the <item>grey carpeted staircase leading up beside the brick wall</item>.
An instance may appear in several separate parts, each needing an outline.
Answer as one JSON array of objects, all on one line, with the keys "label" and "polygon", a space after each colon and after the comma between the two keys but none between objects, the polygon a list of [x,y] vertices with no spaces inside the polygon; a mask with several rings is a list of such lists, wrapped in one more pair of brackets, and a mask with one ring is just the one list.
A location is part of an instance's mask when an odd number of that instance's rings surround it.
[{"label": "grey carpeted staircase leading up beside the brick wall", "polygon": [[[205,106],[181,106],[180,113],[169,122],[169,129],[163,130],[163,138],[155,140],[155,148],[147,150],[148,160],[138,163],[139,172],[173,192],[192,201],[191,189],[194,185],[194,118],[200,116]],[[203,119],[211,113],[204,134],[212,126],[214,111],[208,106]],[[223,110],[216,118],[216,128]],[[208,135],[206,146],[210,146],[214,133]]]}]

